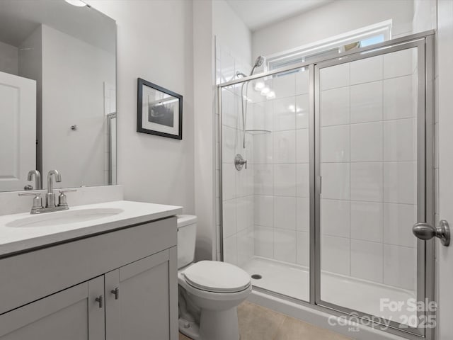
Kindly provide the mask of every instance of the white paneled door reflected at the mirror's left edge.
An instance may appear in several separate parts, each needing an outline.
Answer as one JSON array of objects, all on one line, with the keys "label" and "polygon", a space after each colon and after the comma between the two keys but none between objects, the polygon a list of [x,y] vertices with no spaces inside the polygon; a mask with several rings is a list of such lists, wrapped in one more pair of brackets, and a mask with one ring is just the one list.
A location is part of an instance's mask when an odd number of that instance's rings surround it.
[{"label": "white paneled door reflected at the mirror's left edge", "polygon": [[36,168],[36,81],[0,72],[0,191],[19,191]]}]

